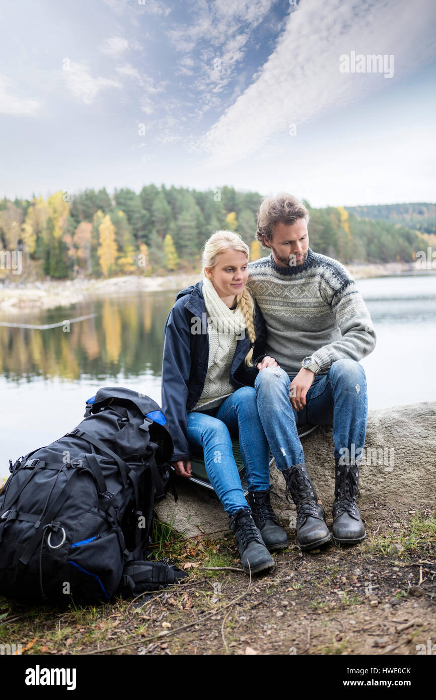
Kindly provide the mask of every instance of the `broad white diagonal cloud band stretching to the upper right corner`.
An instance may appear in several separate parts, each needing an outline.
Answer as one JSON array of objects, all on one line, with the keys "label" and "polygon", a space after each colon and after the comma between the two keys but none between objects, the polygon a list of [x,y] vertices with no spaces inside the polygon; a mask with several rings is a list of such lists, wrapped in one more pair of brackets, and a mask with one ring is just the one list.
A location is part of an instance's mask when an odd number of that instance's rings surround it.
[{"label": "broad white diagonal cloud band stretching to the upper right corner", "polygon": [[[226,3],[223,2],[223,5]],[[260,151],[269,137],[380,90],[430,59],[435,50],[433,0],[304,0],[255,83],[202,139],[213,163]],[[395,76],[340,73],[339,56],[394,55]]]}]

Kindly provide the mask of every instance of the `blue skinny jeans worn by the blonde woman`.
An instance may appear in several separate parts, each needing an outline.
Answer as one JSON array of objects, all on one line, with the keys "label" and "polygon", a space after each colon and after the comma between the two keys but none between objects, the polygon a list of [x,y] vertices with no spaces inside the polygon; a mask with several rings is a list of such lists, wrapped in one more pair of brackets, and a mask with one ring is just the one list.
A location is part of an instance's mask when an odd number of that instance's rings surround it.
[{"label": "blue skinny jeans worn by the blonde woman", "polygon": [[250,491],[269,487],[269,447],[252,386],[237,389],[220,407],[207,413],[189,413],[187,435],[192,454],[203,452],[209,481],[227,513],[248,507],[234,461],[232,436],[239,435]]}]

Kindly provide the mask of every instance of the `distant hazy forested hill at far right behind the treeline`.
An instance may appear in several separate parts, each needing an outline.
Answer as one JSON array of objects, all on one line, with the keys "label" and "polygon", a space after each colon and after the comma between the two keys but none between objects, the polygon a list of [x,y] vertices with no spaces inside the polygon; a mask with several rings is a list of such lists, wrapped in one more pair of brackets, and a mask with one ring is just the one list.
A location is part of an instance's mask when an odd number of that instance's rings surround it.
[{"label": "distant hazy forested hill at far right behind the treeline", "polygon": [[400,223],[421,233],[436,234],[436,204],[412,202],[411,204],[371,204],[367,207],[345,207],[358,218],[381,219]]}]

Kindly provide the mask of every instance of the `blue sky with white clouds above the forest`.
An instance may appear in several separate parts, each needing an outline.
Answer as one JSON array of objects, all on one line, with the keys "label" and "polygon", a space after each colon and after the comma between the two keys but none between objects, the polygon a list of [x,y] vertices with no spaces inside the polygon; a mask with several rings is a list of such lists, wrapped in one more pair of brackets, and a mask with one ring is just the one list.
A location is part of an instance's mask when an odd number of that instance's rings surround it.
[{"label": "blue sky with white clouds above the forest", "polygon": [[435,0],[22,0],[0,22],[1,197],[436,200]]}]

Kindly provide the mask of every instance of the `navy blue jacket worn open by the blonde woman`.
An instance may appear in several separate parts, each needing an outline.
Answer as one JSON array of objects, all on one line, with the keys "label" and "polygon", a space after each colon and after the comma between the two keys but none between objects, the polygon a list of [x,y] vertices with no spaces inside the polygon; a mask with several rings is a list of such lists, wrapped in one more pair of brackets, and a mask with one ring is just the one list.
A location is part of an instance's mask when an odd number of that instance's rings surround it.
[{"label": "navy blue jacket worn open by the blonde woman", "polygon": [[[190,459],[186,426],[188,413],[202,395],[209,360],[209,330],[206,304],[202,295],[203,282],[178,293],[164,328],[162,360],[162,411],[168,421],[174,452],[171,461]],[[265,353],[267,329],[255,302],[255,334],[253,358],[260,361]],[[230,382],[235,388],[253,386],[258,374],[256,363],[251,369],[244,358],[251,347],[248,333],[238,339],[230,367]]]}]

